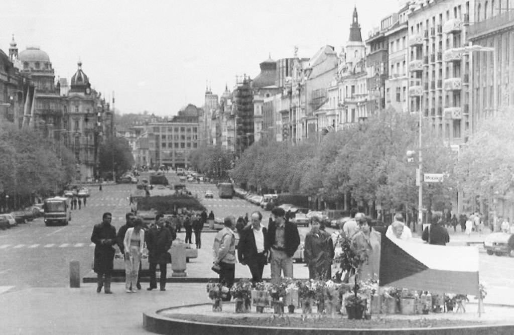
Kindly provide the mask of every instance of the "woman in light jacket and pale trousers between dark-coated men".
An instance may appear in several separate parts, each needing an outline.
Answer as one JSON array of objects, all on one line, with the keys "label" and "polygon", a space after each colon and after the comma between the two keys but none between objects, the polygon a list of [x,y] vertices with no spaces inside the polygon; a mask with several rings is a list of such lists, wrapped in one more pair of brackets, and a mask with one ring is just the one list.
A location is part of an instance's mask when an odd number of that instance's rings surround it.
[{"label": "woman in light jacket and pale trousers between dark-coated men", "polygon": [[123,239],[125,247],[125,292],[136,293],[132,289],[137,284],[137,273],[144,247],[143,221],[139,218],[134,220],[134,227],[128,228]]}]

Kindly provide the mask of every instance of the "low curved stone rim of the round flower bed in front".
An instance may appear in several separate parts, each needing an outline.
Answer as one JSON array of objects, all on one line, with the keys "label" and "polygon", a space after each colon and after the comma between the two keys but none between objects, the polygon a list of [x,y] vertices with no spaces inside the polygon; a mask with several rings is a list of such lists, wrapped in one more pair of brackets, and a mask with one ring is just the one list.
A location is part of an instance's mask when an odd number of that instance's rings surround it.
[{"label": "low curved stone rim of the round flower bed in front", "polygon": [[[189,308],[197,306],[207,306],[211,304],[196,304],[188,306],[178,306],[164,308],[157,311],[148,311],[143,313],[144,329],[159,334],[219,334],[219,335],[272,335],[272,334],[359,334],[359,335],[376,335],[376,334],[400,334],[400,335],[500,335],[514,334],[514,322],[503,323],[497,325],[471,325],[471,326],[452,326],[452,327],[431,327],[431,328],[373,328],[373,329],[348,329],[348,328],[298,328],[283,326],[247,326],[247,325],[228,325],[216,324],[208,322],[196,322],[183,319],[170,318],[162,315],[163,312],[170,312],[180,308]],[[233,306],[229,308],[233,308]],[[225,305],[224,305],[224,308]],[[512,309],[512,307],[505,307]],[[270,314],[271,315],[271,314]],[[444,314],[442,314],[444,315]],[[223,316],[221,316],[223,318]],[[363,322],[365,327],[365,322]]]}]

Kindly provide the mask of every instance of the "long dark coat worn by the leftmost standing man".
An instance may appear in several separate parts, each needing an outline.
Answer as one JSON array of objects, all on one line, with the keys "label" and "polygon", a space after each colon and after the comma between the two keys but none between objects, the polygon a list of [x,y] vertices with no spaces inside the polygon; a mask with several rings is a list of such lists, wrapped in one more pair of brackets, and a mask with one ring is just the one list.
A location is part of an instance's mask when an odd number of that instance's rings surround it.
[{"label": "long dark coat worn by the leftmost standing man", "polygon": [[96,273],[111,273],[114,267],[115,250],[113,245],[118,242],[116,228],[111,224],[96,224],[91,234],[91,242],[95,243],[95,260],[93,271]]}]

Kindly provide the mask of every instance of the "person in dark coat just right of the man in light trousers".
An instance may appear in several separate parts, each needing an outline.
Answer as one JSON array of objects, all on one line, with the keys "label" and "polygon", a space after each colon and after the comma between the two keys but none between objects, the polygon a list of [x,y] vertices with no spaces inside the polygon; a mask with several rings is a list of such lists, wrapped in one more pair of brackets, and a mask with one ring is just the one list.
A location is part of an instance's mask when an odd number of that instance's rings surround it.
[{"label": "person in dark coat just right of the man in light trousers", "polygon": [[309,279],[332,278],[334,244],[331,235],[321,229],[318,217],[310,221],[310,232],[305,236],[304,256],[309,267]]}]

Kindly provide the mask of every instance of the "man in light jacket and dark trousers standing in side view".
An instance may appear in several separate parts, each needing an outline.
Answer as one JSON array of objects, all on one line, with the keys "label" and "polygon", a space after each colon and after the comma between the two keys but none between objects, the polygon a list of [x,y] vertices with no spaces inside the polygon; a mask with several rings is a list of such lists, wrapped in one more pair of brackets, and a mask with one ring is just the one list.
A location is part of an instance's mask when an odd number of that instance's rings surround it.
[{"label": "man in light jacket and dark trousers standing in side view", "polygon": [[[214,263],[219,265],[219,283],[231,288],[234,285],[235,277],[235,235],[233,218],[226,217],[223,221],[224,227],[216,234],[212,246],[214,252]],[[230,293],[223,301],[230,301]]]}]

